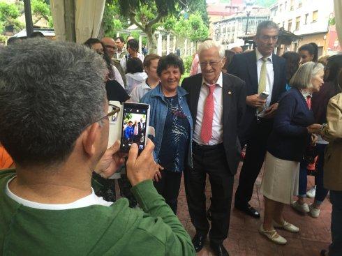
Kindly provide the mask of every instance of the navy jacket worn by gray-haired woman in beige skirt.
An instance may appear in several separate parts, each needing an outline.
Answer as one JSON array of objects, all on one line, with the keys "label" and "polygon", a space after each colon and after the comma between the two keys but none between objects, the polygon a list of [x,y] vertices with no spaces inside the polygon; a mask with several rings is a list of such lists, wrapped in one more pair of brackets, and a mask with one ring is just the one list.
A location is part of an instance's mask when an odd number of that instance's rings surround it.
[{"label": "navy jacket worn by gray-haired woman in beige skirt", "polygon": [[296,88],[290,89],[279,103],[267,151],[276,158],[300,162],[310,140],[306,127],[314,121],[302,93]]}]

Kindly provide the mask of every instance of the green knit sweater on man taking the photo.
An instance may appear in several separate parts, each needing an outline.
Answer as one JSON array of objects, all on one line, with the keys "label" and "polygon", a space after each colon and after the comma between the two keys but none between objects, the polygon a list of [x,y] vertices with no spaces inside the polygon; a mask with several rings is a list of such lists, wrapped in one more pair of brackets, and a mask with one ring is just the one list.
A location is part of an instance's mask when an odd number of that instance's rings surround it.
[{"label": "green knit sweater on man taking the photo", "polygon": [[144,211],[127,199],[68,210],[23,206],[5,193],[15,170],[0,172],[0,255],[195,255],[191,239],[153,186],[132,188]]}]

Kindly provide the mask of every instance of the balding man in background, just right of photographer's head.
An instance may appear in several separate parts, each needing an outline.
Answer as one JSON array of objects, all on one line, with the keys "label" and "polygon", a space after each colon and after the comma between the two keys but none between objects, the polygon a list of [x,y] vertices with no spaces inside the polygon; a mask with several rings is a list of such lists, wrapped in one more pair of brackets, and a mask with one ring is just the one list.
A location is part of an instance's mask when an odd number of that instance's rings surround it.
[{"label": "balding man in background, just right of photographer's head", "polygon": [[[124,70],[122,70],[120,62],[115,59],[114,54],[116,55],[117,53],[117,44],[115,43],[113,38],[102,38],[101,42],[105,46],[105,52],[107,52],[108,56],[112,60],[112,64],[114,66],[114,73],[115,77],[117,77],[117,82],[121,84],[124,88],[126,86],[126,76],[124,73]],[[120,77],[119,77],[120,76]]]}]

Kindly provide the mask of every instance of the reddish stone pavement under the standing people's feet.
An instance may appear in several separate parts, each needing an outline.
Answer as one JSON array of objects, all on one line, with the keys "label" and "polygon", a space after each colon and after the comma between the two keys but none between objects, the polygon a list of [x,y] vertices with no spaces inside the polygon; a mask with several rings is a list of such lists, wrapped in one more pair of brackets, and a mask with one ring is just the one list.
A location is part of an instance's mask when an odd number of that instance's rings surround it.
[{"label": "reddish stone pavement under the standing people's feet", "polygon": [[[239,169],[241,167],[241,163]],[[264,199],[259,193],[262,173],[255,182],[253,198],[251,205],[258,209],[263,218]],[[239,173],[235,176],[234,191],[237,188]],[[313,176],[308,177],[308,188],[313,186]],[[210,184],[207,182],[206,188],[207,206],[209,206]],[[308,202],[313,202],[313,199],[307,199]],[[234,205],[234,198],[232,205]],[[302,215],[295,212],[290,206],[285,206],[285,219],[290,223],[299,227],[299,234],[292,234],[279,230],[279,234],[288,240],[285,246],[278,246],[268,241],[264,236],[258,233],[261,220],[256,220],[244,213],[237,211],[232,207],[230,217],[230,230],[228,239],[224,241],[225,247],[228,249],[231,256],[315,256],[320,255],[320,250],[327,248],[331,241],[330,220],[332,206],[329,199],[325,199],[320,211],[320,217],[315,219],[308,215]],[[191,235],[195,234],[195,229],[191,224],[188,214],[188,206],[186,204],[186,196],[184,183],[181,183],[181,191],[178,199],[177,216],[181,223],[186,227],[186,230]],[[198,253],[200,256],[213,255],[209,248],[209,242],[205,248]]]}]

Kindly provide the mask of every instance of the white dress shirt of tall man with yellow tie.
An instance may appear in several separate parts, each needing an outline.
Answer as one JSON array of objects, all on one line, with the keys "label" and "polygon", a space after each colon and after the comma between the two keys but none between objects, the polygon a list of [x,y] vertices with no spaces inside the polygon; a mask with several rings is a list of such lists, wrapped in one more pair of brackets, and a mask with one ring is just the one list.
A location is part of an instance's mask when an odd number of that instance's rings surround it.
[{"label": "white dress shirt of tall man with yellow tie", "polygon": [[[257,61],[257,71],[258,71],[258,81],[260,80],[260,72],[262,66],[262,54],[258,51],[258,48],[255,50],[256,53],[256,61]],[[272,53],[273,54],[273,53]],[[273,61],[272,54],[268,57],[266,62],[266,70],[267,70],[267,79],[266,79],[266,92],[269,94],[266,100],[266,107],[269,107],[272,98],[272,89],[274,84],[274,70],[273,70]]]}]

